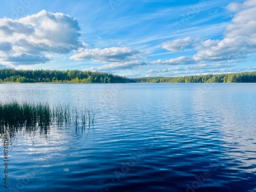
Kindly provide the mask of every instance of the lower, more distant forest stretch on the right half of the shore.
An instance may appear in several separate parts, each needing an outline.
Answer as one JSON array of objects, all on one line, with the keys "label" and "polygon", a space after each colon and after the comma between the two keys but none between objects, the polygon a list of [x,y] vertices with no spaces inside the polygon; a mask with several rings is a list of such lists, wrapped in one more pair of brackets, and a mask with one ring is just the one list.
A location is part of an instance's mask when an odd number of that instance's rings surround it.
[{"label": "lower, more distant forest stretch on the right half of the shore", "polygon": [[256,72],[194,75],[185,77],[141,77],[133,78],[136,82],[256,82]]}]

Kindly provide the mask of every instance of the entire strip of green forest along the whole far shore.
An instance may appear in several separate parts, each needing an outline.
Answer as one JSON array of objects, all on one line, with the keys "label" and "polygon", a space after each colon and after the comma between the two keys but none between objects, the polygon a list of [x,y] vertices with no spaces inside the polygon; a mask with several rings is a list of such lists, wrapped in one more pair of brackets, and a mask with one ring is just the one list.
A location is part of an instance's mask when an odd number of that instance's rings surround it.
[{"label": "entire strip of green forest along the whole far shore", "polygon": [[73,83],[129,83],[129,82],[256,82],[256,72],[195,75],[185,77],[126,78],[110,73],[68,70],[0,69],[1,82],[73,82]]}]

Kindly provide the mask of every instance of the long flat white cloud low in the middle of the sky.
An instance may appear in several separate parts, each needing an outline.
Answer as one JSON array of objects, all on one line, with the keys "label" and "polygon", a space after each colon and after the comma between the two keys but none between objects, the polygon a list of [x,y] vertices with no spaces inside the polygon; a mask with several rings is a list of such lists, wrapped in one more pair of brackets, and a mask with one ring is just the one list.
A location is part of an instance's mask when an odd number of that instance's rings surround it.
[{"label": "long flat white cloud low in the middle of the sky", "polygon": [[128,47],[111,47],[105,49],[79,49],[70,58],[74,60],[93,59],[100,62],[119,62],[136,59],[140,54],[141,52]]}]

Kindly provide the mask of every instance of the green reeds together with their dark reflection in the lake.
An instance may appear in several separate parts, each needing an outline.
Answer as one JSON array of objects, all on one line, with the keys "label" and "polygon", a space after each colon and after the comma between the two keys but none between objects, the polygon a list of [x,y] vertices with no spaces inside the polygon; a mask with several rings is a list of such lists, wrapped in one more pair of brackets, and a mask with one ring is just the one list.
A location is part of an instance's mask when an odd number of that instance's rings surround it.
[{"label": "green reeds together with their dark reflection in the lake", "polygon": [[38,134],[47,139],[51,129],[63,127],[74,127],[77,138],[88,138],[95,123],[94,109],[87,106],[71,109],[69,105],[50,106],[47,102],[0,103],[0,138],[7,136],[9,144],[13,145],[18,138],[34,138]]}]

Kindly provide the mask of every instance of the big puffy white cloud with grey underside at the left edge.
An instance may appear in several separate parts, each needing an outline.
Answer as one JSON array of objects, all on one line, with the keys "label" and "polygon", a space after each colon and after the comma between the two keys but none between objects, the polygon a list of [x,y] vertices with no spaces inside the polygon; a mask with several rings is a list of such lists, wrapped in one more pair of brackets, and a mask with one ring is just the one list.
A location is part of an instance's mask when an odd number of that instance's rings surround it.
[{"label": "big puffy white cloud with grey underside at the left edge", "polygon": [[45,63],[47,54],[67,54],[84,47],[77,20],[45,10],[19,19],[0,18],[2,61],[20,64]]}]

